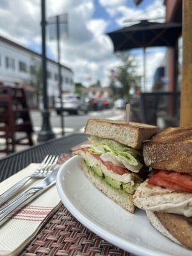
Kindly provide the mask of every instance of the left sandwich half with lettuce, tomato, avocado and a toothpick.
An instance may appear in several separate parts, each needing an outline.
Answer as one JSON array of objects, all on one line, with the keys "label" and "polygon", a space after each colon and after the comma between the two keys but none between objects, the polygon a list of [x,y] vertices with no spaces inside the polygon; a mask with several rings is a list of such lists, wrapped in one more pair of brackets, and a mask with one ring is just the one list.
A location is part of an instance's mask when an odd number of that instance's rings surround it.
[{"label": "left sandwich half with lettuce, tomato, avocado and a toothpick", "polygon": [[143,140],[157,132],[147,124],[88,120],[84,129],[90,144],[81,146],[82,169],[88,179],[114,202],[134,212],[132,195],[143,181]]}]

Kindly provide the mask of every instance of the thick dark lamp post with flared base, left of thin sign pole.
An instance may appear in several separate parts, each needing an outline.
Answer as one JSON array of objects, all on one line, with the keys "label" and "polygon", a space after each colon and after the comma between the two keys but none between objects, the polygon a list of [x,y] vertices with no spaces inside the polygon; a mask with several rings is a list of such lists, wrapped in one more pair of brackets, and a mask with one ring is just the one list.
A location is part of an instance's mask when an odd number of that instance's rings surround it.
[{"label": "thick dark lamp post with flared base, left of thin sign pole", "polygon": [[42,129],[38,133],[37,140],[39,142],[51,140],[55,138],[50,124],[49,102],[47,98],[47,58],[46,58],[46,20],[45,20],[45,0],[41,0],[42,7],[42,76],[43,76],[43,100],[44,109],[42,111]]}]

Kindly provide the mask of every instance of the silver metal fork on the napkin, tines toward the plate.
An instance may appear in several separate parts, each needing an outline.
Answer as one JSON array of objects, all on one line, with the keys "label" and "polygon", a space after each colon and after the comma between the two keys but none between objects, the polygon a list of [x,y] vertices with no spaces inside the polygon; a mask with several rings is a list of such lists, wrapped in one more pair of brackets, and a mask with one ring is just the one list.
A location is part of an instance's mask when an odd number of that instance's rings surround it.
[{"label": "silver metal fork on the napkin, tines toward the plate", "polygon": [[30,179],[43,179],[47,175],[49,175],[52,172],[52,170],[54,170],[54,166],[56,165],[57,161],[58,156],[47,155],[32,175],[23,178],[15,185],[13,185],[11,188],[6,190],[2,195],[0,195],[0,205],[8,201],[16,193],[18,193],[24,186],[24,184],[26,184]]}]

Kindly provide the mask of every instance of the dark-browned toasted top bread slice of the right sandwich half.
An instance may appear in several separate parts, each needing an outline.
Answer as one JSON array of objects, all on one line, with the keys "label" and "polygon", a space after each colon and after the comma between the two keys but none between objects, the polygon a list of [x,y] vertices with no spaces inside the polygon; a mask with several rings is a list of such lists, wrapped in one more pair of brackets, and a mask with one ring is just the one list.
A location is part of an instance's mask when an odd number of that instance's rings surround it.
[{"label": "dark-browned toasted top bread slice of the right sandwich half", "polygon": [[168,128],[144,143],[145,164],[192,174],[192,127]]}]

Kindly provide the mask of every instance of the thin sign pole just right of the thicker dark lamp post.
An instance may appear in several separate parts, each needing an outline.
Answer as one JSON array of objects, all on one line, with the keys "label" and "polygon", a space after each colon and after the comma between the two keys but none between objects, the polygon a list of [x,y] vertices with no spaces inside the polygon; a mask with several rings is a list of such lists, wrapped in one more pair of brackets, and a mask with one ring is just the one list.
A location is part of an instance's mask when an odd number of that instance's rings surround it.
[{"label": "thin sign pole just right of the thicker dark lamp post", "polygon": [[60,104],[61,104],[61,132],[62,136],[65,135],[64,131],[64,116],[63,116],[63,97],[62,97],[62,77],[61,77],[61,63],[60,63],[60,16],[56,16],[56,30],[57,30],[57,43],[58,43],[58,74],[59,74],[59,92],[60,92]]}]

